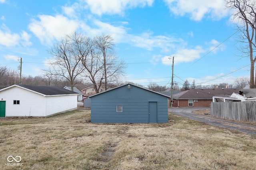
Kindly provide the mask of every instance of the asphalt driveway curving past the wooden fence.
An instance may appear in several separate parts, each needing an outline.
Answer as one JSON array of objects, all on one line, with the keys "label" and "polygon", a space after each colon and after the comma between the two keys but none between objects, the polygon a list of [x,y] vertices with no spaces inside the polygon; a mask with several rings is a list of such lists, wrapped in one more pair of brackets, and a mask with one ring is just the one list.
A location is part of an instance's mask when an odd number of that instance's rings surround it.
[{"label": "asphalt driveway curving past the wooden fence", "polygon": [[168,111],[175,113],[176,115],[188,117],[189,119],[194,119],[196,121],[201,121],[210,125],[224,127],[236,131],[242,131],[244,133],[248,133],[250,135],[256,135],[256,122],[255,125],[247,125],[240,123],[238,121],[232,121],[228,119],[219,119],[216,117],[212,117],[211,115],[198,115],[196,113],[192,113],[192,111],[200,110],[200,109],[208,109],[206,107],[189,107],[189,108],[169,108]]}]

